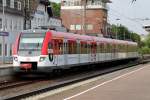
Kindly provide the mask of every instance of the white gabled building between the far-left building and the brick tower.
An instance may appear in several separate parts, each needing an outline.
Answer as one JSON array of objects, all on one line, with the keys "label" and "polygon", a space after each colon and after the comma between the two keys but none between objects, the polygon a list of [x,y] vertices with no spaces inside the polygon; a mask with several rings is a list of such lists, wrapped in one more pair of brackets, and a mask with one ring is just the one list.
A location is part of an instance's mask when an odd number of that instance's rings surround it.
[{"label": "white gabled building between the far-left building and the brick tower", "polygon": [[[51,11],[48,11],[51,10]],[[36,11],[33,14],[31,20],[31,29],[38,28],[39,26],[62,26],[62,20],[60,18],[52,17],[52,9],[45,8],[45,0],[40,0],[37,5]]]}]

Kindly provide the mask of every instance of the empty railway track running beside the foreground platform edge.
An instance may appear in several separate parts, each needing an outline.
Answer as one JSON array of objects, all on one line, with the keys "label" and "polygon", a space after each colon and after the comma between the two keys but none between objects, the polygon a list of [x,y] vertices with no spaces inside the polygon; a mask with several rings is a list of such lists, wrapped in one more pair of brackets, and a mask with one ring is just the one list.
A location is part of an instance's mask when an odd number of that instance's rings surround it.
[{"label": "empty railway track running beside the foreground platform edge", "polygon": [[[45,85],[44,85],[44,83],[42,83],[43,86],[39,85],[38,88],[36,87],[36,89],[32,89],[30,91],[25,91],[25,92],[21,91],[20,93],[17,93],[17,94],[11,95],[11,96],[5,96],[4,99],[18,100],[18,99],[30,97],[30,96],[33,96],[33,95],[36,95],[36,94],[41,94],[41,93],[44,93],[46,91],[50,91],[50,90],[53,90],[53,89],[56,89],[56,88],[59,88],[59,87],[63,87],[63,86],[67,86],[67,85],[70,85],[70,84],[73,84],[73,83],[76,83],[76,82],[84,81],[84,80],[87,80],[87,79],[90,79],[90,78],[93,78],[93,77],[96,77],[96,76],[99,76],[99,75],[103,75],[103,74],[111,73],[111,72],[121,70],[121,69],[124,69],[124,68],[128,68],[128,67],[131,67],[131,66],[134,66],[134,65],[137,65],[137,64],[138,63],[135,63],[135,62],[134,63],[129,62],[127,65],[119,65],[117,67],[110,67],[110,68],[107,68],[107,69],[99,69],[99,70],[96,69],[96,70],[93,70],[93,71],[90,71],[90,72],[85,71],[83,73],[76,72],[75,75],[70,74],[70,75],[61,76],[60,78],[53,78],[52,80],[45,80],[45,82],[47,82],[47,81],[51,81],[51,82],[49,82]],[[34,84],[36,82],[39,83],[39,81],[34,81],[34,82],[27,82],[27,83],[23,82],[23,84],[28,85],[28,84]],[[17,83],[17,84],[21,84],[21,83]],[[16,86],[15,87],[18,88],[18,85],[16,85]],[[12,87],[10,87],[10,88],[12,88]],[[7,88],[7,89],[9,89],[9,88]]]}]

